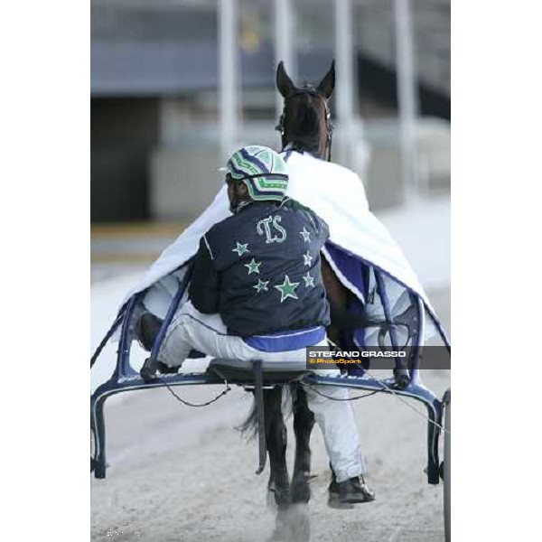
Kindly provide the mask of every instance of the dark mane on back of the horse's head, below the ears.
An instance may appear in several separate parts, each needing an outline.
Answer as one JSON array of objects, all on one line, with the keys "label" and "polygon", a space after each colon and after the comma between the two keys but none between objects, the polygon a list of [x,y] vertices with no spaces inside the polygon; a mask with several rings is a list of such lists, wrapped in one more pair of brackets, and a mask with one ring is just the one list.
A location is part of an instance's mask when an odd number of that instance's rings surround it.
[{"label": "dark mane on back of the horse's head, below the ears", "polygon": [[318,98],[312,94],[299,94],[288,104],[285,116],[285,135],[294,148],[320,154],[322,125]]}]

